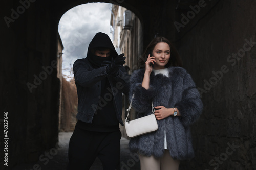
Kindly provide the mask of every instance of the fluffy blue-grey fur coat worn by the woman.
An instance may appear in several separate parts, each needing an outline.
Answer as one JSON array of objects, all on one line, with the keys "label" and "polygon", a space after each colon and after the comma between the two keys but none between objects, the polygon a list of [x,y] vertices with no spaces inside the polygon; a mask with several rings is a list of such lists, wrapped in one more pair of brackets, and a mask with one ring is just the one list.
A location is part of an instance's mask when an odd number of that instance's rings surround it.
[{"label": "fluffy blue-grey fur coat worn by the woman", "polygon": [[164,153],[164,127],[166,130],[167,148],[174,159],[185,160],[194,157],[189,126],[200,116],[203,104],[200,94],[191,76],[184,68],[169,67],[169,77],[151,72],[150,88],[141,86],[145,69],[133,72],[130,79],[131,100],[133,93],[133,108],[138,112],[137,118],[150,115],[151,101],[154,106],[178,108],[181,116],[169,116],[157,120],[156,132],[132,138],[129,147],[132,152],[156,158]]}]

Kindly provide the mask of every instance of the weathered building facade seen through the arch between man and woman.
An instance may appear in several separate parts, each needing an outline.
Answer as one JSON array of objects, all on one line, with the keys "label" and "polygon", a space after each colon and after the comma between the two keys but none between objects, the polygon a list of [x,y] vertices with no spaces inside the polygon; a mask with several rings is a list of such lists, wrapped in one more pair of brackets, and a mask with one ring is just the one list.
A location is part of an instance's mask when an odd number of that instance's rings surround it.
[{"label": "weathered building facade seen through the arch between man and woman", "polygon": [[[111,32],[113,35],[113,44],[118,54],[124,53],[126,56],[125,68],[128,74],[132,74],[137,69],[137,61],[142,55],[142,28],[138,17],[130,10],[118,5],[112,5],[111,10]],[[128,96],[123,96],[123,114],[124,121],[127,116],[126,109],[130,101]],[[130,120],[135,119],[135,111],[130,111]],[[122,136],[127,138],[124,126],[120,127]]]}]

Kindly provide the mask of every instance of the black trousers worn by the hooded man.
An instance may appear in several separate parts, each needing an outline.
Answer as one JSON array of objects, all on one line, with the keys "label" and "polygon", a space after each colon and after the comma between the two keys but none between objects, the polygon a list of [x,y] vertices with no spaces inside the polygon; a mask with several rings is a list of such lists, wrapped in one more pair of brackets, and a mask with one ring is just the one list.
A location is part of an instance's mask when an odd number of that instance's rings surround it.
[{"label": "black trousers worn by the hooded man", "polygon": [[90,169],[96,157],[103,169],[120,169],[120,130],[93,132],[75,127],[69,142],[68,170]]}]

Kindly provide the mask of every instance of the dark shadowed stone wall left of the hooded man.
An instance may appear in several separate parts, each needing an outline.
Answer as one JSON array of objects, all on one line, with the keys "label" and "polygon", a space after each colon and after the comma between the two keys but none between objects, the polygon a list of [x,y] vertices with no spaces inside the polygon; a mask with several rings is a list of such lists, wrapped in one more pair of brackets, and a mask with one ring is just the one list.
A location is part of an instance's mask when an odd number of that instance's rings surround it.
[{"label": "dark shadowed stone wall left of the hooded man", "polygon": [[[8,169],[37,161],[58,141],[57,25],[48,5],[32,0],[26,8],[20,1],[1,5],[0,103],[2,115],[8,112]],[[3,158],[2,134],[0,140]],[[3,161],[0,166],[7,167]]]}]

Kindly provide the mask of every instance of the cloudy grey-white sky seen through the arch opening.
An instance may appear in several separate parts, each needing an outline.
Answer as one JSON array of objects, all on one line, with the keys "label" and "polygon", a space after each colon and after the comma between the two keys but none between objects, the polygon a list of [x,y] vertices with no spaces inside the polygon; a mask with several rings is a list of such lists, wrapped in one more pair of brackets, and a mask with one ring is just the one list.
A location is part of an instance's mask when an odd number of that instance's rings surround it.
[{"label": "cloudy grey-white sky seen through the arch opening", "polygon": [[70,9],[61,17],[58,31],[64,46],[62,74],[69,74],[75,60],[86,57],[88,45],[97,32],[106,33],[112,39],[111,6],[109,3],[87,3]]}]

